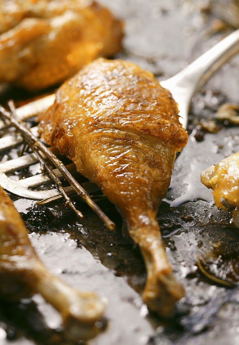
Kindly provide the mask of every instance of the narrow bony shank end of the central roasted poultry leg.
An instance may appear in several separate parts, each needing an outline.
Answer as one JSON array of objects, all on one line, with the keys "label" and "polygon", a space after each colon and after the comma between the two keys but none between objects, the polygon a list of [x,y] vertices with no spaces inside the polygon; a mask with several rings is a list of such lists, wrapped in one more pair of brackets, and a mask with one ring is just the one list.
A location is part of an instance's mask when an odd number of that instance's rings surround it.
[{"label": "narrow bony shank end of the central roasted poultry leg", "polygon": [[147,269],[147,281],[143,300],[152,311],[169,316],[175,302],[184,296],[184,289],[175,279],[169,265],[160,236],[158,224],[130,230],[130,235],[138,243]]}]

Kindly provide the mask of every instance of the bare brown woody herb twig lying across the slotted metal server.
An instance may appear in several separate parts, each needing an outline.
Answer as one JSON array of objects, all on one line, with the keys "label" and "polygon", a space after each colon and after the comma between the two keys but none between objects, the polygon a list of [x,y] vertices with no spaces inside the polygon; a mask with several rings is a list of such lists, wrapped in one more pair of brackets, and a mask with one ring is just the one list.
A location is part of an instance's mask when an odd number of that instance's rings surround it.
[{"label": "bare brown woody herb twig lying across the slotted metal server", "polygon": [[[113,230],[115,228],[115,224],[104,214],[104,212],[98,207],[98,205],[92,200],[92,198],[89,196],[89,194],[84,190],[84,188],[76,181],[76,179],[70,174],[70,172],[65,168],[64,164],[58,159],[50,150],[47,148],[37,137],[35,137],[31,131],[28,129],[28,127],[21,122],[21,120],[18,119],[17,114],[15,112],[15,107],[13,101],[9,102],[9,107],[11,109],[11,112],[7,111],[2,105],[0,105],[0,113],[2,114],[4,119],[7,119],[10,121],[11,125],[14,126],[24,137],[24,139],[27,141],[28,145],[32,148],[34,153],[41,152],[41,158],[43,159],[44,155],[46,158],[48,158],[51,163],[61,172],[61,174],[67,179],[67,181],[70,183],[70,185],[75,189],[76,193],[90,206],[90,208],[96,213],[96,215],[104,222],[104,224],[107,226],[108,229]],[[44,161],[44,167],[46,168],[46,162],[45,158]],[[49,167],[49,166],[48,166]],[[46,168],[47,172],[51,176],[52,169],[49,170]],[[54,175],[54,173],[53,173]],[[52,176],[51,176],[52,177]],[[58,189],[60,192],[62,192],[63,187],[59,182],[56,182],[56,185],[58,186]],[[65,198],[66,196],[66,198]],[[64,198],[66,199],[66,206],[70,206],[69,204],[69,197],[64,195]],[[71,203],[71,201],[70,201]],[[73,205],[73,204],[72,204]],[[74,205],[73,205],[74,207]],[[78,211],[78,215],[80,216],[80,211]],[[82,215],[83,216],[83,215]]]}]

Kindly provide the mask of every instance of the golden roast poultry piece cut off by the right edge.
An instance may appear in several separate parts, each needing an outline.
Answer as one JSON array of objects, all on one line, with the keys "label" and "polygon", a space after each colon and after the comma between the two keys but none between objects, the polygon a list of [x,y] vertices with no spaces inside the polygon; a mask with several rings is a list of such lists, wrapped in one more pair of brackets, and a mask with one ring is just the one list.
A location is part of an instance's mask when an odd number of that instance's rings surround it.
[{"label": "golden roast poultry piece cut off by the right edge", "polygon": [[202,171],[201,183],[213,190],[217,207],[227,209],[225,200],[239,207],[239,152]]}]

